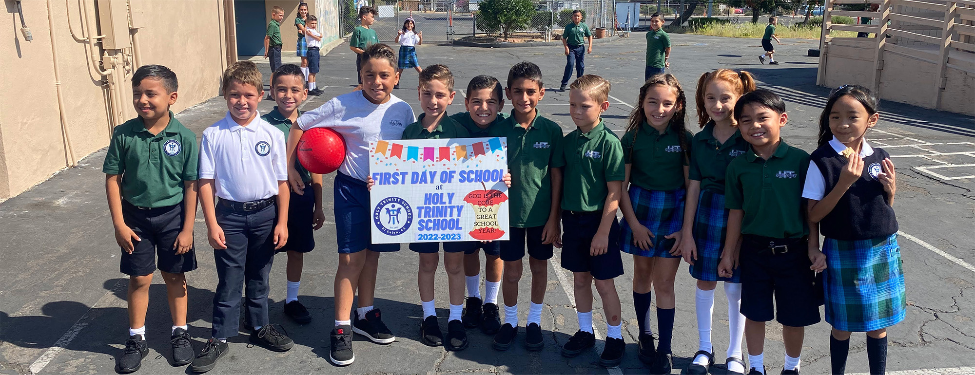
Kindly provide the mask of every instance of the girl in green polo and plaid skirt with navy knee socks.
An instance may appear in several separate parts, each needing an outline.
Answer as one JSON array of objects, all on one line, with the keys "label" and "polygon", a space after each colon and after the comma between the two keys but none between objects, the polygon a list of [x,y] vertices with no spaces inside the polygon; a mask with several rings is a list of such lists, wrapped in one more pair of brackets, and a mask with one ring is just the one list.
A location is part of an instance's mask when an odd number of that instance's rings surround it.
[{"label": "girl in green polo and plaid skirt with navy knee socks", "polygon": [[[651,374],[673,368],[674,278],[681,265],[684,189],[691,139],[686,129],[687,100],[671,74],[657,74],[640,89],[640,101],[623,135],[629,189],[621,199],[625,221],[620,245],[633,254],[633,303],[640,324],[639,357]],[[690,239],[686,239],[690,240]],[[657,331],[653,348],[650,287],[657,292]]]}]

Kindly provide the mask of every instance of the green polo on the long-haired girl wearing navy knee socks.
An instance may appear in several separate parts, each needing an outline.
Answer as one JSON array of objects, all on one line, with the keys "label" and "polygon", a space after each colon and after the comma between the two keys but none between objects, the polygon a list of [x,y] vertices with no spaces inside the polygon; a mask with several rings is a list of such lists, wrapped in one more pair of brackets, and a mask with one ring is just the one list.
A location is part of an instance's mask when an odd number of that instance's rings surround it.
[{"label": "green polo on the long-haired girl wearing navy knee socks", "polygon": [[[690,131],[684,139],[690,142]],[[671,191],[683,187],[683,166],[689,161],[681,137],[670,127],[661,133],[645,122],[639,129],[623,134],[623,158],[630,169],[630,183],[646,190]]]}]

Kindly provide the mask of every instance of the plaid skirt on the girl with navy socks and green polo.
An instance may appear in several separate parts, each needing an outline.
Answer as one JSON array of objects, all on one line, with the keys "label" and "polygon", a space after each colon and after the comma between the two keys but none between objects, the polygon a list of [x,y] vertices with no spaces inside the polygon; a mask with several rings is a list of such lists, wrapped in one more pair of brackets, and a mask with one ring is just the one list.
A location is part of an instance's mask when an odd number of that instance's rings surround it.
[{"label": "plaid skirt on the girl with navy socks and green polo", "polygon": [[630,202],[633,203],[633,211],[637,219],[646,229],[650,230],[655,236],[653,247],[644,250],[640,246],[633,244],[633,230],[630,224],[623,220],[620,226],[620,247],[622,250],[634,255],[679,258],[671,255],[665,250],[657,250],[657,244],[664,240],[664,236],[670,236],[674,232],[681,230],[683,226],[683,195],[684,190],[677,189],[671,191],[646,190],[637,185],[630,185]]}]

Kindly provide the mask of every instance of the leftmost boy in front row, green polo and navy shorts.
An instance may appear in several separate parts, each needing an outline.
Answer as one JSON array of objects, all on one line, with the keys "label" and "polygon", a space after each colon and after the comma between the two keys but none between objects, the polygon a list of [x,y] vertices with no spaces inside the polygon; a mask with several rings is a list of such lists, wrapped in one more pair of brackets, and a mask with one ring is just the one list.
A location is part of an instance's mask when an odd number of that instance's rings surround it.
[{"label": "leftmost boy in front row, green polo and navy shorts", "polygon": [[115,242],[122,248],[120,269],[129,275],[129,340],[115,356],[115,371],[123,374],[137,371],[149,354],[145,312],[157,268],[166,281],[173,318],[173,365],[193,360],[184,274],[196,269],[193,220],[199,148],[196,134],[170,111],[176,89],[176,73],[166,66],[136,70],[132,103],[138,117],[115,128],[102,166]]}]

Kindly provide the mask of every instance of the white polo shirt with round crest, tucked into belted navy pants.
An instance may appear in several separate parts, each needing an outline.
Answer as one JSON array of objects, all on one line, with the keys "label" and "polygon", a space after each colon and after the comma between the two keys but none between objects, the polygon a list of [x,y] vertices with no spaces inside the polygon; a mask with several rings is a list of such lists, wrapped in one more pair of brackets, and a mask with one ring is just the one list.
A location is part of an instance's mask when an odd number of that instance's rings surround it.
[{"label": "white polo shirt with round crest, tucked into belted navy pants", "polygon": [[260,118],[240,126],[227,112],[203,131],[200,178],[214,179],[216,196],[251,202],[278,195],[279,181],[288,180],[285,133]]}]

